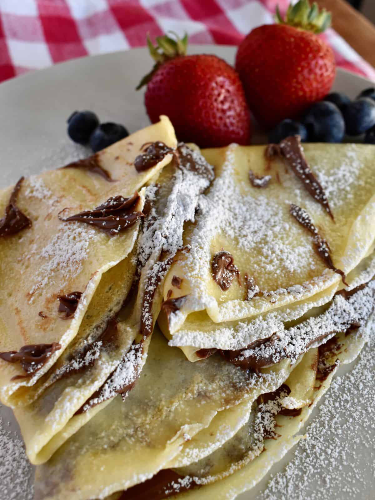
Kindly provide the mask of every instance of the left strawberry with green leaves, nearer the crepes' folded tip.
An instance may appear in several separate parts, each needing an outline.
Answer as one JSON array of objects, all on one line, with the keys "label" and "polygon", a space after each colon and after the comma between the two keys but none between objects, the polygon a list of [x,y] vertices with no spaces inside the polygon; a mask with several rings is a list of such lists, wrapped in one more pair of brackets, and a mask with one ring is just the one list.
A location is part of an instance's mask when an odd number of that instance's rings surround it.
[{"label": "left strawberry with green leaves, nearer the crepes' folded tip", "polygon": [[147,37],[156,63],[137,88],[147,84],[144,103],[150,120],[171,120],[179,140],[201,147],[248,144],[250,114],[235,70],[215,55],[185,55],[187,36]]}]

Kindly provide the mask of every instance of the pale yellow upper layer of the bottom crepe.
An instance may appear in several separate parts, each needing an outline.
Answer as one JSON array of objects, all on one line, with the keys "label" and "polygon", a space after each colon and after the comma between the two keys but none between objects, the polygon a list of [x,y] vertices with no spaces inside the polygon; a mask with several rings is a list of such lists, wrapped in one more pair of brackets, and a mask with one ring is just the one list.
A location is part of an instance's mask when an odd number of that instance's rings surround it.
[{"label": "pale yellow upper layer of the bottom crepe", "polygon": [[288,366],[249,375],[219,355],[192,364],[155,331],[127,398],[113,399],[37,467],[35,498],[104,497],[150,477],[217,411],[277,387]]}]

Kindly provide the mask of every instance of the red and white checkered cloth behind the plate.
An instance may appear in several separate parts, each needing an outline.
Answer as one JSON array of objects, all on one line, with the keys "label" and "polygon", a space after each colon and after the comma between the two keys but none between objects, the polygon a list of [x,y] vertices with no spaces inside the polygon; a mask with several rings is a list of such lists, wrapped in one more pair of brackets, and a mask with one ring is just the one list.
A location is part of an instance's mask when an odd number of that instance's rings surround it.
[{"label": "red and white checkered cloth behind the plate", "polygon": [[[145,45],[167,30],[190,43],[238,45],[289,0],[0,0],[0,81],[83,55]],[[375,80],[375,69],[337,33],[337,65]]]}]

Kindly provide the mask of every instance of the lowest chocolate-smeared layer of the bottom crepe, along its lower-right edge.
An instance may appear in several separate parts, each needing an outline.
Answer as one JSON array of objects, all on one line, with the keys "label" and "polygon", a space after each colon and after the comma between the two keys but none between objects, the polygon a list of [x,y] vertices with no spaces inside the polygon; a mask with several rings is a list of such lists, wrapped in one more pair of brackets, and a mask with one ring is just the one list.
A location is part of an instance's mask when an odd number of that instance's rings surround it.
[{"label": "lowest chocolate-smeared layer of the bottom crepe, along its lower-right edge", "polygon": [[[194,500],[204,497],[208,500],[233,500],[238,494],[251,489],[275,462],[303,438],[296,433],[329,388],[338,364],[355,359],[366,335],[371,334],[371,330],[373,334],[373,327],[372,317],[365,326],[367,331],[362,328],[349,336],[336,335],[318,348],[315,384],[309,404],[290,409],[292,390],[296,388],[293,370],[277,391],[258,398],[247,424],[222,448],[190,466],[161,470],[150,480],[124,491],[118,498]],[[302,366],[302,363],[295,371],[303,367],[305,374],[313,374],[310,366],[307,363]]]}]

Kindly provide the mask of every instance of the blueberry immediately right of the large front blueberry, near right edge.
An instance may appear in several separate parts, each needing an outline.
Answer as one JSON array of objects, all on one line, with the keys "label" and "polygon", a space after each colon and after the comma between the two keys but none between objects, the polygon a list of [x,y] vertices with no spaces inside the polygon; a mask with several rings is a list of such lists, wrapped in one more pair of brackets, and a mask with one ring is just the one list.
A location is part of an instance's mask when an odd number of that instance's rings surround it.
[{"label": "blueberry immediately right of the large front blueberry, near right edge", "polygon": [[359,135],[375,125],[375,102],[368,97],[360,97],[348,104],[342,114],[346,133]]}]

